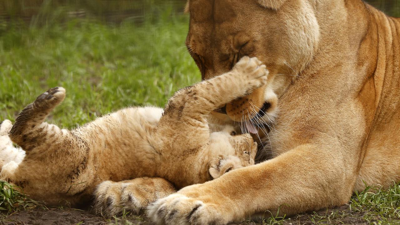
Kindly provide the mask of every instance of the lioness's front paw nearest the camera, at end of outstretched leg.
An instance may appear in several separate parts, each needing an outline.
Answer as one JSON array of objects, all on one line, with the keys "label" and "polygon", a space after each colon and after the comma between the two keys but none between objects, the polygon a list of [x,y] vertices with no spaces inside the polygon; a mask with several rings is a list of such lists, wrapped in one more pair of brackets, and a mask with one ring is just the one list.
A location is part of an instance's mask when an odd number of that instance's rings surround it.
[{"label": "lioness's front paw nearest the camera, at end of outstretched leg", "polygon": [[215,204],[207,204],[181,194],[172,194],[147,207],[148,217],[159,225],[223,225],[223,213]]}]

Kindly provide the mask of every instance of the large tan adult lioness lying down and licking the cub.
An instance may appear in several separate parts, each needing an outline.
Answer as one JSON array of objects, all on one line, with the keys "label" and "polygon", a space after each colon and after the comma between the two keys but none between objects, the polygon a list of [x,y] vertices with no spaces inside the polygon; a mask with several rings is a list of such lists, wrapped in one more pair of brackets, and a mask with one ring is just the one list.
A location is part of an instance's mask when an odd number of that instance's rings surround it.
[{"label": "large tan adult lioness lying down and licking the cub", "polygon": [[[362,181],[400,180],[399,19],[361,0],[190,0],[188,10],[187,45],[204,79],[243,55],[270,70],[276,157],[156,201],[154,221],[224,224],[282,204],[294,214],[343,205]],[[226,112],[262,116],[274,98],[260,88]]]}]

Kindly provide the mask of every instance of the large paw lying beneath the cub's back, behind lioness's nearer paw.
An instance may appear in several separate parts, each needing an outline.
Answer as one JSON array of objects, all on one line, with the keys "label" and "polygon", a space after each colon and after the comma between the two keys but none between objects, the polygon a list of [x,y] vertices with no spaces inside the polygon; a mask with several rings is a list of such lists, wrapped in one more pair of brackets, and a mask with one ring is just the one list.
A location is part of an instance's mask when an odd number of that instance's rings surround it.
[{"label": "large paw lying beneath the cub's back, behind lioness's nearer paw", "polygon": [[139,177],[132,180],[104,181],[94,192],[96,213],[114,215],[123,209],[139,213],[157,199],[175,193],[176,189],[167,180],[159,177]]}]

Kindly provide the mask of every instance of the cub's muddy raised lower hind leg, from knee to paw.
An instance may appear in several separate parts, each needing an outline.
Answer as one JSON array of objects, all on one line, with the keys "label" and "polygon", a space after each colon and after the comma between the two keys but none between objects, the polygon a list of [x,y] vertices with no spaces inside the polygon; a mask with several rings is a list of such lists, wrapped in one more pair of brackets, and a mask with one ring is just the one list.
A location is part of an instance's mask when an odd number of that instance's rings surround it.
[{"label": "cub's muddy raised lower hind leg, from knee to paw", "polygon": [[61,129],[56,125],[44,123],[44,120],[64,100],[64,97],[65,89],[62,87],[50,88],[40,94],[33,103],[28,104],[20,112],[10,131],[10,139],[25,151],[37,147],[44,141],[48,143],[56,141]]}]

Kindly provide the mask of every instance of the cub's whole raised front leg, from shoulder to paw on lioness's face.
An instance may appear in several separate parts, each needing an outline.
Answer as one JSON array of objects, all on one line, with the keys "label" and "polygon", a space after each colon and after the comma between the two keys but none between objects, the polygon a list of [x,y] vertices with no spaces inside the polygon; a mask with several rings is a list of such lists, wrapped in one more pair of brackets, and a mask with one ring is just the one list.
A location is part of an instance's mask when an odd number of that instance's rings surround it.
[{"label": "cub's whole raised front leg, from shoulder to paw on lioness's face", "polygon": [[210,112],[263,86],[267,75],[268,70],[260,60],[244,56],[230,72],[178,90],[168,100],[156,139],[171,149],[182,149],[182,146],[198,149],[207,145]]}]

